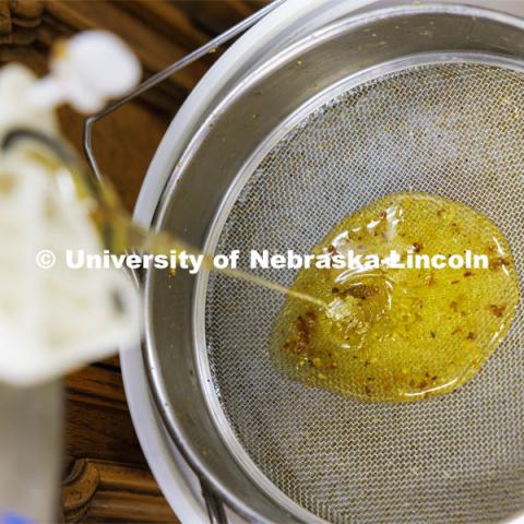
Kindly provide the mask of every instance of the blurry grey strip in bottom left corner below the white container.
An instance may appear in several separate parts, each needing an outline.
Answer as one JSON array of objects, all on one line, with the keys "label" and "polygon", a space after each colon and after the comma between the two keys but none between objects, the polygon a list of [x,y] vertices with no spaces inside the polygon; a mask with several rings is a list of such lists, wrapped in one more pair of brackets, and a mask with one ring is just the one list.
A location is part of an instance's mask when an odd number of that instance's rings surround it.
[{"label": "blurry grey strip in bottom left corner below the white container", "polygon": [[58,521],[63,396],[61,381],[35,388],[0,385],[0,517],[3,522],[10,516],[14,520],[15,515],[24,522]]}]

